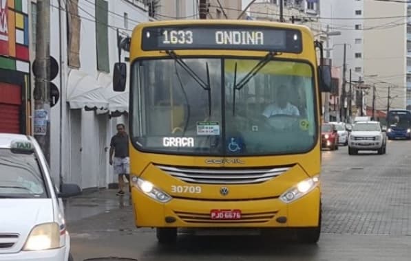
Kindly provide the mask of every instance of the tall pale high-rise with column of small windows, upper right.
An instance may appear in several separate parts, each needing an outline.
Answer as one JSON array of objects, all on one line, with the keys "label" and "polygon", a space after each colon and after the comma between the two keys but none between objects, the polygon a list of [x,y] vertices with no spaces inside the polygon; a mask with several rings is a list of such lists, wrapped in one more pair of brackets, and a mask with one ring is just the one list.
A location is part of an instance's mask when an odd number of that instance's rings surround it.
[{"label": "tall pale high-rise with column of small windows, upper right", "polygon": [[[346,44],[346,80],[351,69],[353,81],[375,85],[376,110],[386,111],[388,100],[390,108],[405,108],[407,81],[411,87],[411,69],[407,69],[407,65],[411,66],[411,60],[407,61],[411,37],[408,40],[406,3],[321,0],[320,5],[321,23],[341,32],[341,36],[331,38],[333,65],[342,69]],[[372,106],[372,90],[368,92],[366,106]]]}]

